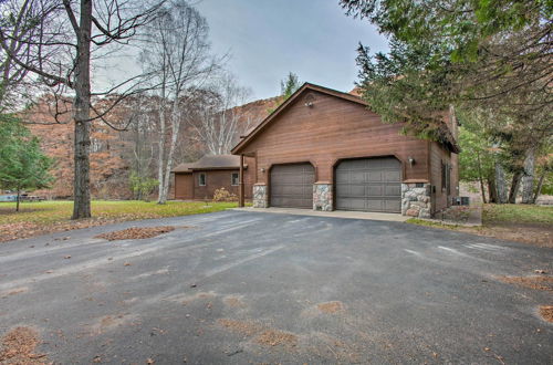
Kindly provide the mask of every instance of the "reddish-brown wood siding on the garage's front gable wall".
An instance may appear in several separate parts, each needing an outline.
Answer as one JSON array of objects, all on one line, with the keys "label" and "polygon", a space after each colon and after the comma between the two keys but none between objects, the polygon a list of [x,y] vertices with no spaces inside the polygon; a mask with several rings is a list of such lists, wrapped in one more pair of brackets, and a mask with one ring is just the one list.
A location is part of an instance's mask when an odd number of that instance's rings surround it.
[{"label": "reddish-brown wood siding on the garage's front gable wall", "polygon": [[[400,135],[401,125],[383,124],[358,103],[316,91],[305,94],[244,147],[242,153],[257,156],[257,182],[269,184],[268,171],[275,164],[309,161],[316,181],[333,184],[334,166],[341,159],[375,156],[396,156],[403,163],[403,180],[429,179],[426,140]],[[304,105],[305,97],[313,106]],[[413,166],[408,157],[416,160]]]}]

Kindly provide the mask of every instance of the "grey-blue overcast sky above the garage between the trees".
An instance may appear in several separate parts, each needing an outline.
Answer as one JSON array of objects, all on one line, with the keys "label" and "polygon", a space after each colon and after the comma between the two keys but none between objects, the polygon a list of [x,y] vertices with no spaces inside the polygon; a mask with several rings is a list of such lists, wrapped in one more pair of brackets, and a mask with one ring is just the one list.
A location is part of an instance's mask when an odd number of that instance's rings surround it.
[{"label": "grey-blue overcast sky above the garage between the trees", "polygon": [[228,69],[251,98],[280,94],[291,71],[302,82],[349,91],[357,80],[359,41],[386,51],[386,40],[367,20],[344,14],[338,0],[200,0],[212,50],[230,52]]}]

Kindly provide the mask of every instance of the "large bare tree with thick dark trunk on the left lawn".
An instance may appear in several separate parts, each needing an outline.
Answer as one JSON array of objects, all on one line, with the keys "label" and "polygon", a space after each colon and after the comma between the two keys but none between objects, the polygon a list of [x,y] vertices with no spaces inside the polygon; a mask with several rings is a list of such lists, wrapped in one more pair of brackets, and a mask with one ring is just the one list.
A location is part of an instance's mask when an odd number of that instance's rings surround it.
[{"label": "large bare tree with thick dark trunk on the left lawn", "polygon": [[[73,219],[91,217],[91,122],[102,119],[117,128],[105,118],[109,108],[96,113],[91,98],[128,86],[114,101],[115,106],[128,94],[137,92],[137,84],[134,82],[138,81],[138,76],[107,91],[93,92],[92,62],[105,55],[109,46],[127,44],[137,34],[137,30],[154,18],[158,7],[159,4],[154,4],[145,10],[143,4],[138,8],[129,0],[9,0],[0,7],[3,17],[0,45],[6,56],[12,64],[49,86],[59,97],[54,103],[56,119],[64,113],[73,113]],[[27,12],[32,12],[31,20],[18,15]],[[11,21],[4,21],[6,19]],[[28,27],[33,27],[34,30],[19,31]],[[14,42],[24,44],[27,51],[23,54],[15,52]],[[73,95],[71,100],[63,96],[67,93]],[[71,107],[60,109],[60,105],[67,104]]]}]

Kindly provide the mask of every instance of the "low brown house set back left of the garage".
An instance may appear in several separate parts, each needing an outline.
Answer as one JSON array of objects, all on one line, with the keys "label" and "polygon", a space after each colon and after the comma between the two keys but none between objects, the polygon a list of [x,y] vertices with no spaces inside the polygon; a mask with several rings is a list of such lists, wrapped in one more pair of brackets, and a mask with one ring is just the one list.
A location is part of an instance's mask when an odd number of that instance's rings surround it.
[{"label": "low brown house set back left of the garage", "polygon": [[[246,170],[248,166],[244,166]],[[196,163],[180,164],[175,174],[175,199],[208,200],[217,189],[225,188],[238,196],[240,182],[240,157],[233,155],[204,156]],[[247,191],[251,182],[246,181]],[[247,194],[246,199],[251,199]]]}]

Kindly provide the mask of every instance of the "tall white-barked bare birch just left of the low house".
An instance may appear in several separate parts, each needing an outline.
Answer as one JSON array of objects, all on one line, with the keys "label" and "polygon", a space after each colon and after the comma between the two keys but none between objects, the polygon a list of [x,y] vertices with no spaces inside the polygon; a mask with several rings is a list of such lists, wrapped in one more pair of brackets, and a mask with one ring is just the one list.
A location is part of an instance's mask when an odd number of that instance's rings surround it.
[{"label": "tall white-barked bare birch just left of the low house", "polygon": [[185,0],[168,1],[158,14],[143,56],[159,84],[158,204],[165,204],[187,101],[217,69],[218,60],[209,54],[206,19]]}]

